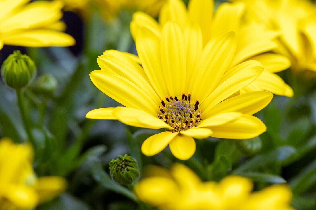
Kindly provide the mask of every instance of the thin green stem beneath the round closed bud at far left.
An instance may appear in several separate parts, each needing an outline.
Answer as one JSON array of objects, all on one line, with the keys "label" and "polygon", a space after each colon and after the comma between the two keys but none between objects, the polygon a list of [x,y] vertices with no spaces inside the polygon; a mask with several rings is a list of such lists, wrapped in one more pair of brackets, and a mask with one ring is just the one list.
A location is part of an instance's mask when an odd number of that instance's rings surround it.
[{"label": "thin green stem beneath the round closed bud at far left", "polygon": [[23,92],[21,89],[16,90],[16,97],[17,97],[17,104],[18,107],[20,109],[21,112],[21,118],[22,118],[22,122],[25,128],[25,131],[27,133],[28,136],[28,140],[30,141],[30,143],[33,145],[34,148],[36,148],[36,141],[32,135],[32,129],[30,127],[30,120],[29,120],[29,116],[27,115],[27,110],[25,107],[25,103],[24,103],[24,97],[23,97]]}]

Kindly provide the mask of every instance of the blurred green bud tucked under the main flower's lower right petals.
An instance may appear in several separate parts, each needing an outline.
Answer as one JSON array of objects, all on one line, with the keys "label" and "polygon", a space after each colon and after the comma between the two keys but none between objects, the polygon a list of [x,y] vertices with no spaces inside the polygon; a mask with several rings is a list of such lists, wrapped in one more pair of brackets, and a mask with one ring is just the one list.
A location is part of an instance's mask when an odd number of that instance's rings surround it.
[{"label": "blurred green bud tucked under the main flower's lower right petals", "polygon": [[260,152],[262,141],[260,137],[237,141],[238,149],[246,156],[252,156]]}]

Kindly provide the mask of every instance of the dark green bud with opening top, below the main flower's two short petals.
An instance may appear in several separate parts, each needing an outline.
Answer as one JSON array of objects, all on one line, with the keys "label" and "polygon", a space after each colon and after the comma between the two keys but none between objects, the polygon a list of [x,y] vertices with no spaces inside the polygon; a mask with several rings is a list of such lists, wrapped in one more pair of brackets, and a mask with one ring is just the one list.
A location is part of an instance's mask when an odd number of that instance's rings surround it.
[{"label": "dark green bud with opening top, below the main flower's two short petals", "polygon": [[119,157],[109,162],[112,179],[124,185],[132,184],[139,177],[137,161],[129,155]]}]

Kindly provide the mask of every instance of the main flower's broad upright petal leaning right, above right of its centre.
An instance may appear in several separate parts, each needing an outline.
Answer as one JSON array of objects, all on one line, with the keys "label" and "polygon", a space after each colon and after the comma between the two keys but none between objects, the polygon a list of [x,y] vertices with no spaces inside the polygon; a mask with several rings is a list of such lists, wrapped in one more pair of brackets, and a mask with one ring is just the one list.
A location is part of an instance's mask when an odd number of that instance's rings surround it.
[{"label": "main flower's broad upright petal leaning right, above right of its centre", "polygon": [[225,33],[206,45],[195,69],[197,73],[192,74],[189,91],[192,90],[193,97],[204,101],[216,87],[233,58],[236,45],[234,32]]}]

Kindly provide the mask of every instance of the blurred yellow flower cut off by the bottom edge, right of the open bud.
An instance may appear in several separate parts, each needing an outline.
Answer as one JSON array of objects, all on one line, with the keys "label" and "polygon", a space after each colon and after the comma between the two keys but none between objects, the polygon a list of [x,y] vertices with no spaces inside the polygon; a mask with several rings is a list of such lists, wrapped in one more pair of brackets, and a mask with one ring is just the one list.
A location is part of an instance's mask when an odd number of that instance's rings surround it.
[{"label": "blurred yellow flower cut off by the bottom edge, right of the open bud", "polygon": [[150,174],[135,185],[135,193],[163,210],[294,210],[292,192],[283,184],[252,192],[252,181],[241,176],[231,175],[219,183],[202,182],[179,163],[170,171],[151,166]]}]

